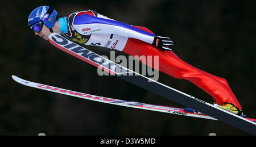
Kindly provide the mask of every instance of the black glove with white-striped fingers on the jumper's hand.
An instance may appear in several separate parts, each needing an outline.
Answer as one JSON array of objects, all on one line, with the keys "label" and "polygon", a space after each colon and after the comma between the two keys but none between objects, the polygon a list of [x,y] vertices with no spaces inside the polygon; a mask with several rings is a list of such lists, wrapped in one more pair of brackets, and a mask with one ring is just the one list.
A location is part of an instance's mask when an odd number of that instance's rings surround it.
[{"label": "black glove with white-striped fingers on the jumper's hand", "polygon": [[174,44],[169,37],[155,36],[152,45],[155,45],[164,51],[172,51],[170,47],[172,47]]}]

